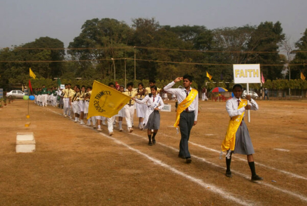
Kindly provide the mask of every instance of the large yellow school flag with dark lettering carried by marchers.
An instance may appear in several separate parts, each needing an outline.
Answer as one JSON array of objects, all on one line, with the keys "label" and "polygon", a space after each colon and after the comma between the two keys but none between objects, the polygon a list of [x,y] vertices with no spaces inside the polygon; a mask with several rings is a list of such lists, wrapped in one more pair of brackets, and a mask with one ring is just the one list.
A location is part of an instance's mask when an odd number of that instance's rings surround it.
[{"label": "large yellow school flag with dark lettering carried by marchers", "polygon": [[111,118],[129,102],[131,98],[118,90],[108,87],[98,81],[94,81],[90,98],[89,114],[87,119],[93,116]]}]

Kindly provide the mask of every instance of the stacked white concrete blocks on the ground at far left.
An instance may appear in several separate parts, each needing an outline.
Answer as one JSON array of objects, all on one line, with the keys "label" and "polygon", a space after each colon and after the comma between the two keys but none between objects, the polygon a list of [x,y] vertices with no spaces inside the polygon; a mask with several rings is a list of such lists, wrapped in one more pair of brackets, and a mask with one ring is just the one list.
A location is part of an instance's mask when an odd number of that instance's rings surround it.
[{"label": "stacked white concrete blocks on the ground at far left", "polygon": [[16,136],[16,152],[34,152],[36,142],[33,132],[18,132]]}]

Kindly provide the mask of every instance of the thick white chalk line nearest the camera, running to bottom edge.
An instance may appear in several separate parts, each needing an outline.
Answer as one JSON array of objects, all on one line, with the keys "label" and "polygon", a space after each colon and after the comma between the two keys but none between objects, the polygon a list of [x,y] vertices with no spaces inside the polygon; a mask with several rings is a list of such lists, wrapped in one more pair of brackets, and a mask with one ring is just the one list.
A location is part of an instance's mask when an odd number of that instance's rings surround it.
[{"label": "thick white chalk line nearest the camera, running to bottom edge", "polygon": [[130,149],[130,150],[132,150],[132,151],[135,151],[135,152],[137,152],[138,154],[141,154],[141,155],[145,156],[146,158],[148,158],[148,159],[149,159],[150,161],[152,161],[153,163],[155,163],[155,164],[157,164],[157,165],[160,165],[161,167],[164,167],[164,168],[166,168],[166,169],[172,171],[173,173],[178,174],[178,175],[180,175],[180,176],[182,176],[182,177],[184,177],[184,178],[187,178],[187,179],[189,179],[190,181],[192,181],[192,182],[194,182],[194,183],[196,183],[196,184],[202,186],[202,187],[205,188],[205,189],[208,189],[208,190],[212,191],[213,193],[216,193],[216,194],[220,195],[221,197],[223,197],[223,198],[225,198],[225,199],[232,200],[232,201],[234,201],[234,202],[236,202],[236,203],[238,203],[238,204],[242,204],[242,205],[253,205],[253,203],[254,203],[254,202],[246,202],[246,201],[244,201],[244,200],[242,200],[242,199],[239,199],[239,198],[237,198],[237,197],[234,197],[234,196],[230,195],[229,192],[223,191],[222,189],[217,188],[216,186],[207,184],[207,183],[204,182],[202,179],[198,179],[198,178],[195,178],[195,177],[190,176],[190,175],[188,175],[188,174],[185,174],[185,173],[183,173],[183,172],[181,172],[181,171],[179,171],[179,170],[177,170],[177,169],[175,169],[175,168],[173,168],[173,167],[171,167],[171,166],[169,166],[169,165],[167,165],[167,164],[161,162],[159,159],[153,158],[153,157],[151,157],[151,156],[149,156],[149,155],[147,155],[147,154],[141,152],[140,150],[135,149],[135,148],[133,148],[133,147],[130,147],[129,145],[127,145],[127,144],[125,144],[125,143],[123,143],[123,142],[121,142],[121,141],[119,141],[119,140],[117,140],[117,139],[115,139],[115,138],[111,138],[111,136],[108,136],[108,135],[103,134],[103,133],[99,133],[99,134],[105,136],[105,137],[108,138],[108,139],[113,140],[115,143],[117,143],[117,144],[119,144],[119,145],[123,145],[123,146],[127,147],[128,149]]}]

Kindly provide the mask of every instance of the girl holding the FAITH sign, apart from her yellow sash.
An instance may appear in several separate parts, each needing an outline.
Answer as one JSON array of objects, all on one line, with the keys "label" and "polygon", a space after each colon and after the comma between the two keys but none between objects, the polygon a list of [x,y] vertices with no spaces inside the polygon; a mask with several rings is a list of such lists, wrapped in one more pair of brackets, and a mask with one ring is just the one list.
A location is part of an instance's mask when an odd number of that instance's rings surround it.
[{"label": "girl holding the FAITH sign, apart from her yellow sash", "polygon": [[[250,95],[247,95],[246,97],[246,99],[250,101],[249,104],[246,103],[246,106],[242,106],[242,107],[240,106],[240,108],[238,109],[239,105],[242,104],[242,99],[240,98],[243,93],[242,85],[235,84],[232,88],[232,92],[234,94],[234,97],[228,100],[226,103],[226,110],[230,118],[238,117],[242,115],[243,112],[245,112],[248,109],[258,110],[258,104],[255,102],[255,100],[251,99]],[[240,125],[238,126],[238,129],[236,130],[236,133],[235,133],[234,150],[228,150],[227,152],[227,156],[226,156],[226,167],[227,167],[226,176],[227,177],[232,177],[231,171],[230,171],[231,155],[236,154],[236,153],[247,155],[247,161],[251,169],[251,173],[252,173],[251,180],[252,181],[262,180],[263,178],[259,177],[256,174],[254,157],[253,157],[253,153],[255,153],[254,147],[253,147],[253,144],[250,138],[249,131],[244,122],[244,119],[242,119],[242,122],[240,122]]]}]

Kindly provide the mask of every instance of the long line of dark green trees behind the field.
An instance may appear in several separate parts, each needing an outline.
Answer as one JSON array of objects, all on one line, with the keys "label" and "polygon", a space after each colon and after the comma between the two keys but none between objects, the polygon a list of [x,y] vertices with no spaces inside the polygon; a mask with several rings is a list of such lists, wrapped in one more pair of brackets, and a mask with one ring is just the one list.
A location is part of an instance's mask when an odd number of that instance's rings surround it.
[{"label": "long line of dark green trees behind the field", "polygon": [[127,80],[140,81],[166,81],[188,73],[199,87],[209,81],[206,72],[213,76],[211,81],[232,82],[232,64],[260,64],[265,79],[271,81],[289,79],[285,64],[291,65],[291,79],[299,79],[300,72],[306,76],[307,29],[295,43],[297,50],[290,51],[293,58],[280,54],[286,40],[279,21],[209,30],[161,26],[155,18],[136,18],[131,26],[94,18],[84,22],[68,48],[58,39],[40,37],[1,49],[0,87],[27,84],[29,67],[41,80],[59,77],[71,82],[77,77],[89,82],[112,80],[115,71],[117,79],[124,79],[126,72]]}]

